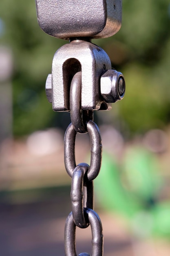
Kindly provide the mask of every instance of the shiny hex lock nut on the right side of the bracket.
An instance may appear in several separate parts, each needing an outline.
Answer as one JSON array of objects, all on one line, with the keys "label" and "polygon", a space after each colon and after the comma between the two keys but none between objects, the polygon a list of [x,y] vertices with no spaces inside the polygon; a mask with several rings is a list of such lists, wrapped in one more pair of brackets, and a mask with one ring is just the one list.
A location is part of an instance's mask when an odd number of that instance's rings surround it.
[{"label": "shiny hex lock nut on the right side of the bracket", "polygon": [[100,92],[108,103],[115,103],[123,99],[125,94],[123,74],[116,70],[107,70],[100,79]]}]

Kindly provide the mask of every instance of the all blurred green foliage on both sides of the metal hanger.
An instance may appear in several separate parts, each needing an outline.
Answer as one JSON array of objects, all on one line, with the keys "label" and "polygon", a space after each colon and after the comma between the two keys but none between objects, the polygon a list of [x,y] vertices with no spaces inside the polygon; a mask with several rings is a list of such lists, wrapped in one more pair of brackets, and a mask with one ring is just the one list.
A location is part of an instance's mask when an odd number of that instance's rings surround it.
[{"label": "all blurred green foliage on both sides of the metal hanger", "polygon": [[[126,95],[107,112],[108,119],[114,124],[121,120],[129,134],[164,128],[170,121],[170,2],[122,2],[120,31],[93,40],[126,79]],[[44,85],[55,51],[67,42],[40,29],[34,0],[1,0],[0,19],[4,23],[0,44],[13,50],[14,135],[61,123],[61,114],[54,113],[46,99]]]}]

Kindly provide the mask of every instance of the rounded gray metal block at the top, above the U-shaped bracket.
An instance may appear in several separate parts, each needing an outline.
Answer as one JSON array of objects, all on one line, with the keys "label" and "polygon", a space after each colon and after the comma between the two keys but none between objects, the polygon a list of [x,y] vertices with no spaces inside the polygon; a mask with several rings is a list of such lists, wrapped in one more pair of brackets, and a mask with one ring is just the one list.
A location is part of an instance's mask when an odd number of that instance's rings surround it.
[{"label": "rounded gray metal block at the top, above the U-shaped bracket", "polygon": [[40,27],[57,38],[105,38],[121,27],[121,0],[35,2]]}]

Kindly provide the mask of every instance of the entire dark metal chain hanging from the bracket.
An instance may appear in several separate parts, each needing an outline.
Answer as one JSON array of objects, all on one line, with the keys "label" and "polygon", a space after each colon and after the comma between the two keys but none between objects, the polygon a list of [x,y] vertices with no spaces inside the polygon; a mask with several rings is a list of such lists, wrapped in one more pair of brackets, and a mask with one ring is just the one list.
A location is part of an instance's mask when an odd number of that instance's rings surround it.
[{"label": "entire dark metal chain hanging from the bracket", "polygon": [[[99,174],[102,160],[102,143],[99,128],[91,120],[92,111],[81,110],[81,74],[77,72],[72,79],[70,89],[70,112],[72,123],[64,136],[64,163],[71,182],[72,212],[65,225],[64,240],[66,256],[77,256],[75,249],[75,228],[86,228],[91,225],[92,256],[103,255],[102,224],[99,216],[93,211],[93,180]],[[76,100],[75,100],[76,99]],[[88,132],[91,141],[91,164],[76,165],[75,138],[77,132]],[[79,256],[90,256],[82,253]]]}]

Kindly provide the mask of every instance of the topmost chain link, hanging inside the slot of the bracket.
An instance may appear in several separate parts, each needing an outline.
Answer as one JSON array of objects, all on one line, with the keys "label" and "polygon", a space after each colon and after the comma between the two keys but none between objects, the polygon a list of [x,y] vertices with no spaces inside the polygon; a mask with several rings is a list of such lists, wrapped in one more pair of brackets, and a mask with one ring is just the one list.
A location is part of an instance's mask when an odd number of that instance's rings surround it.
[{"label": "topmost chain link, hanging inside the slot of the bracket", "polygon": [[81,109],[82,72],[77,72],[70,86],[70,117],[76,132],[86,133],[86,122],[93,120],[93,111]]}]

